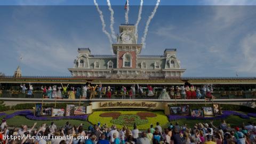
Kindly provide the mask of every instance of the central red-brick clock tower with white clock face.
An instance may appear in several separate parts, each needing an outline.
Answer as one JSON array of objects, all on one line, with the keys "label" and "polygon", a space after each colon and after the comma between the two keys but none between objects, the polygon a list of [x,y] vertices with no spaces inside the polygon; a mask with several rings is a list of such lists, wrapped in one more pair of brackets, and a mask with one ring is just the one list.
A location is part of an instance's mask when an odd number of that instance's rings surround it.
[{"label": "central red-brick clock tower with white clock face", "polygon": [[142,44],[137,44],[134,30],[135,26],[132,24],[119,26],[117,44],[112,44],[113,52],[117,55],[117,69],[135,69],[137,66]]}]

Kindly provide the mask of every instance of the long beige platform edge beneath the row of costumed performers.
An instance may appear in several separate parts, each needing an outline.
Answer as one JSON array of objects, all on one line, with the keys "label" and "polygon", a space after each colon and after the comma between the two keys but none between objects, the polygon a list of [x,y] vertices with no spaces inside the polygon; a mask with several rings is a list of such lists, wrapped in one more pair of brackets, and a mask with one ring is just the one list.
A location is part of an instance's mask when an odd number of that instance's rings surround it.
[{"label": "long beige platform edge beneath the row of costumed performers", "polygon": [[[4,101],[6,106],[13,106],[19,103],[90,103],[97,101],[153,101],[153,102],[165,102],[169,104],[181,103],[205,103],[204,99],[35,99],[35,98],[0,98],[1,101]],[[244,105],[249,107],[255,107],[256,99],[214,99],[207,100],[206,103],[220,103],[220,104],[233,104],[233,105]]]}]

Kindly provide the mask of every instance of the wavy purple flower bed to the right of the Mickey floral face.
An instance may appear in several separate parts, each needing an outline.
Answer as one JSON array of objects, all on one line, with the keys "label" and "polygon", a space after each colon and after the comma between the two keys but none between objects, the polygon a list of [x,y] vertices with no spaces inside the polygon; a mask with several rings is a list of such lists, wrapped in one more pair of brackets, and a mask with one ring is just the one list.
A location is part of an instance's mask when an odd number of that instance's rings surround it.
[{"label": "wavy purple flower bed to the right of the Mickey floral face", "polygon": [[223,110],[222,115],[215,117],[191,117],[191,116],[179,116],[179,115],[168,115],[170,121],[175,121],[178,119],[197,119],[197,120],[218,120],[226,119],[228,116],[234,115],[239,116],[244,119],[250,119],[249,115],[238,113],[237,111]]}]

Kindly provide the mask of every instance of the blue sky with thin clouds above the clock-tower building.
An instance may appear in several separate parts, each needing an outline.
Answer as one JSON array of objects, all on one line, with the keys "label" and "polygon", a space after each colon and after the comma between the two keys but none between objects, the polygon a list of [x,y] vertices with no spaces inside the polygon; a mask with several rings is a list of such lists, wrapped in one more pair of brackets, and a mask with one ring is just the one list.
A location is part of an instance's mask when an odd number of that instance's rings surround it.
[{"label": "blue sky with thin clouds above the clock-tower building", "polygon": [[[110,33],[107,2],[97,2]],[[125,0],[110,2],[118,33],[119,24],[125,22]],[[140,1],[130,3],[129,22],[135,23]],[[143,3],[139,43],[155,3]],[[166,48],[177,48],[181,66],[187,69],[183,76],[235,76],[236,71],[239,76],[255,76],[256,7],[248,6],[254,4],[246,0],[162,0],[141,54],[161,55]],[[13,75],[20,65],[23,75],[69,76],[67,68],[73,67],[77,47],[90,47],[92,54],[111,54],[93,0],[9,0],[0,5],[16,5],[0,8],[0,72],[5,75]]]}]

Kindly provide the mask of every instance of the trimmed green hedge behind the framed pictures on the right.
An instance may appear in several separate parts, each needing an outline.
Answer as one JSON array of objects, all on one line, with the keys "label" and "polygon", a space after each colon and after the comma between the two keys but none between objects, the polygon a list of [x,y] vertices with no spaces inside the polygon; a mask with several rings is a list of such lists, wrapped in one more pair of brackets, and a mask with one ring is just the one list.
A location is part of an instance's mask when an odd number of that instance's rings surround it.
[{"label": "trimmed green hedge behind the framed pictures on the right", "polygon": [[[177,104],[179,106],[180,104]],[[184,104],[186,105],[186,104]],[[175,104],[169,105],[169,106],[175,106]],[[204,103],[197,103],[197,104],[189,104],[190,108],[201,108],[205,107]],[[212,103],[207,103],[207,107],[212,107]],[[221,110],[236,110],[236,111],[243,111],[245,113],[255,113],[256,109],[241,105],[230,105],[230,104],[220,104]]]}]

